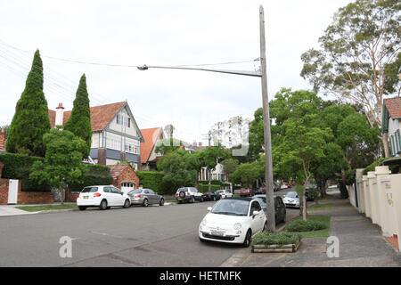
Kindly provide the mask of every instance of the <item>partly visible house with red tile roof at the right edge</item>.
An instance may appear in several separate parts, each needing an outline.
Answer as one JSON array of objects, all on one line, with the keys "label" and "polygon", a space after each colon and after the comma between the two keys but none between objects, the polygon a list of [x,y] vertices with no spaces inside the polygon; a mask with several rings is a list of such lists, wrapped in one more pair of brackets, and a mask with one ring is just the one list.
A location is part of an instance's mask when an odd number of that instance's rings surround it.
[{"label": "partly visible house with red tile roof at the right edge", "polygon": [[392,157],[401,154],[401,97],[384,99],[382,134],[389,134],[389,149]]}]

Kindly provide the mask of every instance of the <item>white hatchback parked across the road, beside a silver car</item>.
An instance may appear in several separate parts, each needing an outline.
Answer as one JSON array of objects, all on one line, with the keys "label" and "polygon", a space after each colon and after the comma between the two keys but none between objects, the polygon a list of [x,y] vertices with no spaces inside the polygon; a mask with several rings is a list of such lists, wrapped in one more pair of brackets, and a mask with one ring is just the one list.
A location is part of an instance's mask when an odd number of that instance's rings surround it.
[{"label": "white hatchback parked across the road, beside a silver car", "polygon": [[114,206],[129,208],[131,199],[112,185],[87,186],[79,193],[77,205],[81,211],[88,207],[99,207],[101,210]]}]

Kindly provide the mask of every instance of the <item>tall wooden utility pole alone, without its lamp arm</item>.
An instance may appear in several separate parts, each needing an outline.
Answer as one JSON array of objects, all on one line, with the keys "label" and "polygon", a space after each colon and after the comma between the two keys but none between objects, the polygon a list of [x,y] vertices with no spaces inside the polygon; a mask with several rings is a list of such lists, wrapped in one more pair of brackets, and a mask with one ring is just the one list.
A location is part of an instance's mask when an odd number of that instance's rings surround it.
[{"label": "tall wooden utility pole alone, without its lamp arm", "polygon": [[267,231],[275,232],[272,135],[270,132],[270,110],[269,110],[269,97],[267,94],[267,72],[266,72],[265,12],[263,10],[262,5],[260,5],[259,7],[259,25],[260,25],[260,64],[262,68],[263,125],[265,133],[265,157],[266,157],[265,177],[266,177]]}]

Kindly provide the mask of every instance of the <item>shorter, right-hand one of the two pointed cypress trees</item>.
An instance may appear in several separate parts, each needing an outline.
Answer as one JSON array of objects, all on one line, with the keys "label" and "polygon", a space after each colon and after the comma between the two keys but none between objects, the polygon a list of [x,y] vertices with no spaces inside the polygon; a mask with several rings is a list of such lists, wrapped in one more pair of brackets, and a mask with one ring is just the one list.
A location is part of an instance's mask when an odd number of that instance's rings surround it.
[{"label": "shorter, right-hand one of the two pointed cypress trees", "polygon": [[92,127],[89,94],[87,94],[85,74],[79,80],[77,94],[71,110],[71,116],[67,122],[65,122],[64,129],[72,132],[86,142],[86,152],[83,153],[83,158],[87,158],[91,151]]}]

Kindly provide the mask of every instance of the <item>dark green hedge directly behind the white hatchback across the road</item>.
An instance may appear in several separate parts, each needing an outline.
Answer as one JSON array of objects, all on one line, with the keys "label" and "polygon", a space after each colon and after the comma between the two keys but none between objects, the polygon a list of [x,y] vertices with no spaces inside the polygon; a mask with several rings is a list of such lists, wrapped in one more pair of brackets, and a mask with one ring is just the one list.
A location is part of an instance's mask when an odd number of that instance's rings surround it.
[{"label": "dark green hedge directly behind the white hatchback across the road", "polygon": [[113,178],[110,176],[110,167],[100,164],[84,164],[86,175],[76,183],[70,183],[71,191],[81,191],[86,186],[91,185],[110,185]]}]

